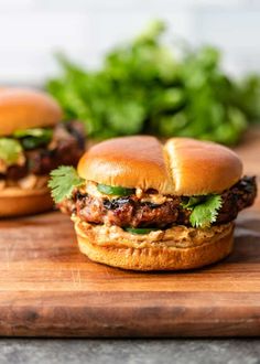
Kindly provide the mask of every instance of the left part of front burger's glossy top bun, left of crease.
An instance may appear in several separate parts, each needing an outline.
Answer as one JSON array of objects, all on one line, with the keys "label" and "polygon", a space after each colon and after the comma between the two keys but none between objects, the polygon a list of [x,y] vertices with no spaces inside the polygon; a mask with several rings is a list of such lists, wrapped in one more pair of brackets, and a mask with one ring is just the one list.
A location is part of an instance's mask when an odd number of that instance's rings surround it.
[{"label": "left part of front burger's glossy top bun, left of crease", "polygon": [[172,192],[162,146],[148,136],[116,138],[96,144],[79,160],[78,174],[108,185]]}]

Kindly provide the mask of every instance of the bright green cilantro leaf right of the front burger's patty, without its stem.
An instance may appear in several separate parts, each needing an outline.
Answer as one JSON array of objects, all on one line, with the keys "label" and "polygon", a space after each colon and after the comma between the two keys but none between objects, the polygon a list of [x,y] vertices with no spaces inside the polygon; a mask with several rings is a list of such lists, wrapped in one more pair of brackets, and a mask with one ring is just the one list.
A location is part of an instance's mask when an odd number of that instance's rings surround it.
[{"label": "bright green cilantro leaf right of the front burger's patty, without its stem", "polygon": [[216,222],[218,210],[221,207],[220,195],[205,196],[204,202],[193,207],[189,222],[193,227],[208,227]]}]

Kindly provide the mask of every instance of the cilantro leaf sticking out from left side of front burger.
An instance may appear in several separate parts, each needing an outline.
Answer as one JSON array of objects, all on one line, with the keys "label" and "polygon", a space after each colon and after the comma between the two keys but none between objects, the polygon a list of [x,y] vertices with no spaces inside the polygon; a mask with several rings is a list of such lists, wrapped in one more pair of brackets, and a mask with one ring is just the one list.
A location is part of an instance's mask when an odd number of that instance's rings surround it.
[{"label": "cilantro leaf sticking out from left side of front burger", "polygon": [[83,185],[84,179],[78,176],[73,167],[61,165],[51,172],[48,186],[52,190],[52,197],[55,203],[62,202],[64,199],[72,197],[73,190]]}]

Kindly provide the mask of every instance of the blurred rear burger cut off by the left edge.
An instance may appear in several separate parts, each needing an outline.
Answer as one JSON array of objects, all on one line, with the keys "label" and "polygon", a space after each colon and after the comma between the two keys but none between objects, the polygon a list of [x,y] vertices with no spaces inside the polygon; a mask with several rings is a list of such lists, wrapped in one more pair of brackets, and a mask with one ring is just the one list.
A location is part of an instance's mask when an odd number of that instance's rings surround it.
[{"label": "blurred rear burger cut off by the left edge", "polygon": [[0,88],[0,217],[52,208],[48,173],[76,165],[85,150],[82,124],[62,117],[44,93]]}]

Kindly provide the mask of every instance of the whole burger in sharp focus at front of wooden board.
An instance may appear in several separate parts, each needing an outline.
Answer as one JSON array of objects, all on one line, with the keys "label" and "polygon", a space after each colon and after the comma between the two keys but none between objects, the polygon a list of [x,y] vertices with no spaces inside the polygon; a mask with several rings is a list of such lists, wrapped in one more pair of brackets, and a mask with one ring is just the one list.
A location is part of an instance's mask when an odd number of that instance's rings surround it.
[{"label": "whole burger in sharp focus at front of wooden board", "polygon": [[235,152],[214,142],[110,139],[50,186],[91,260],[133,270],[209,265],[232,249],[234,220],[257,194]]}]

